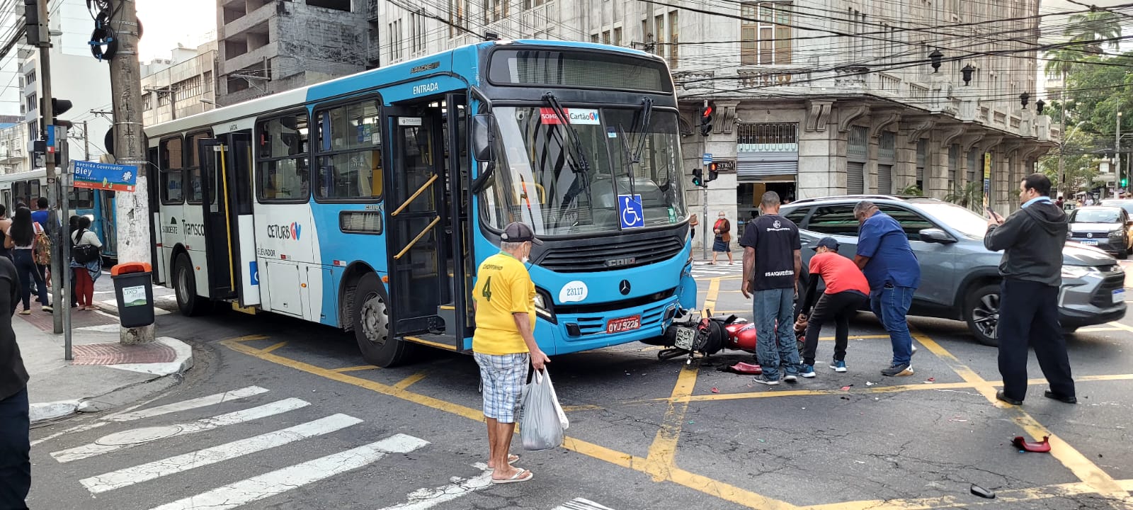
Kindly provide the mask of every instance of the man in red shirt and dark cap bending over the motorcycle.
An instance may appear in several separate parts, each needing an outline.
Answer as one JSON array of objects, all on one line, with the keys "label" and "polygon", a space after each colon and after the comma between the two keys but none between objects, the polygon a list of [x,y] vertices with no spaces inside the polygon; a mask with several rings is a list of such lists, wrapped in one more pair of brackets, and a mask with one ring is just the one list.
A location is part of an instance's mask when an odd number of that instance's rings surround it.
[{"label": "man in red shirt and dark cap bending over the motorcycle", "polygon": [[[807,291],[807,300],[803,303],[803,314],[799,321],[807,321],[807,340],[802,350],[802,369],[799,375],[803,377],[815,376],[815,351],[818,349],[818,333],[823,324],[830,318],[834,320],[834,360],[830,368],[835,372],[846,371],[846,343],[850,340],[850,317],[861,309],[869,300],[869,282],[866,275],[853,261],[838,255],[838,241],[833,237],[819,239],[812,249],[815,256],[810,258],[810,289]],[[818,290],[818,277],[826,282],[826,292],[818,298],[815,312],[809,320],[806,311],[815,300],[815,292]]]}]

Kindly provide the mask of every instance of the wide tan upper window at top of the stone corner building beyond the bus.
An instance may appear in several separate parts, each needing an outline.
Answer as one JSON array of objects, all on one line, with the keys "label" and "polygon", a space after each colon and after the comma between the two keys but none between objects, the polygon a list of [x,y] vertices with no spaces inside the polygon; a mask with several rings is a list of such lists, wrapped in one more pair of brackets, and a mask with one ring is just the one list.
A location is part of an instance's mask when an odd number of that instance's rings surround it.
[{"label": "wide tan upper window at top of the stone corner building beyond the bus", "polygon": [[740,5],[740,65],[791,63],[791,2]]}]

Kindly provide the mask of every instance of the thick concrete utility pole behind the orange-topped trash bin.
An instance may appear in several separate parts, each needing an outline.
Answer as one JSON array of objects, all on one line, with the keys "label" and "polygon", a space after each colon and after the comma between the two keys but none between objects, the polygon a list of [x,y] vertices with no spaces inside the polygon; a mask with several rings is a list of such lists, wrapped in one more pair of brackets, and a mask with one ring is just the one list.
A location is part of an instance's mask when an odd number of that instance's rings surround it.
[{"label": "thick concrete utility pole behind the orange-topped trash bin", "polygon": [[[135,0],[114,2],[110,26],[118,34],[118,51],[110,59],[110,91],[114,110],[114,159],[118,164],[137,167],[135,193],[118,193],[118,260],[150,263],[150,189],[142,133],[142,76],[138,65],[138,24]],[[122,343],[152,342],[153,324],[123,328]]]}]

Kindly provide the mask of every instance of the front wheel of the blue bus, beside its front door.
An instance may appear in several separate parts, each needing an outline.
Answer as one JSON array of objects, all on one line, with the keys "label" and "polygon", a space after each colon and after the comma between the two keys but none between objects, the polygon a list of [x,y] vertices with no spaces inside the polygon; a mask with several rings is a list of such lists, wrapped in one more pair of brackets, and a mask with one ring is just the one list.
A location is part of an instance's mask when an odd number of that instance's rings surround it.
[{"label": "front wheel of the blue bus, beside its front door", "polygon": [[390,308],[382,297],[377,274],[367,273],[355,289],[355,339],[363,359],[390,367],[409,358],[412,346],[390,337]]}]

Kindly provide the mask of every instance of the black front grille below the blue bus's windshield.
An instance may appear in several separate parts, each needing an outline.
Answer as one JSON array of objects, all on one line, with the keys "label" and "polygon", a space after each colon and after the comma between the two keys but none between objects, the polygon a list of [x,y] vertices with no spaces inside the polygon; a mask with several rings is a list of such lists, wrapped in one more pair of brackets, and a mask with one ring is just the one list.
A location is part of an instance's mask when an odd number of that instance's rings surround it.
[{"label": "black front grille below the blue bus's windshield", "polygon": [[675,236],[629,243],[578,245],[548,249],[538,264],[557,273],[612,271],[666,261],[676,256],[683,246]]}]

